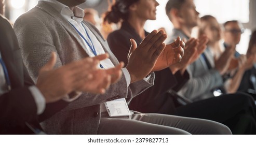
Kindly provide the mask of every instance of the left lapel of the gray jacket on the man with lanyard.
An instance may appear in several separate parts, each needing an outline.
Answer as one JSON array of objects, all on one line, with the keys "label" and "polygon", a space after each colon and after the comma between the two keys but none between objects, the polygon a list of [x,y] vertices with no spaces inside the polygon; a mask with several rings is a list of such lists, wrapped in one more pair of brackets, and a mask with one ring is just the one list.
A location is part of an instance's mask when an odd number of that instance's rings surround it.
[{"label": "left lapel of the gray jacket on the man with lanyard", "polygon": [[83,39],[76,32],[75,28],[69,23],[69,21],[64,19],[55,8],[53,8],[47,2],[43,2],[43,1],[39,1],[36,7],[42,9],[43,11],[47,12],[50,16],[54,17],[65,28],[65,30],[70,33],[70,35],[75,37],[79,45],[82,46],[82,48],[86,51],[86,53],[87,54],[89,53],[88,50],[85,49],[86,46],[84,44]]}]

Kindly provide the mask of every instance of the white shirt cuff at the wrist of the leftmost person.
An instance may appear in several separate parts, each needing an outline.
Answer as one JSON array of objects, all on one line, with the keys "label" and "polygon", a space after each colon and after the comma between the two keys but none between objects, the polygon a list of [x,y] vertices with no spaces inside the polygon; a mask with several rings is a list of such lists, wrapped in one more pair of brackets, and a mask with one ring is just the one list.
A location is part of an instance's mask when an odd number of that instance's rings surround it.
[{"label": "white shirt cuff at the wrist of the leftmost person", "polygon": [[29,90],[34,97],[36,107],[37,107],[37,112],[36,114],[42,114],[45,110],[45,98],[43,94],[36,88],[36,86],[30,86]]}]

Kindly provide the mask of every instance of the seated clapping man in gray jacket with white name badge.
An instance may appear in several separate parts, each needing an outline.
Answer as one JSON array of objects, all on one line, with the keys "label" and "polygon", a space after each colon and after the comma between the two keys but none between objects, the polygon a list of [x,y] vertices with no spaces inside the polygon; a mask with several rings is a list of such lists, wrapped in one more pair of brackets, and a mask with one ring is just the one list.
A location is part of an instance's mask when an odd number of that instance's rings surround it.
[{"label": "seated clapping man in gray jacket with white name badge", "polygon": [[[99,67],[107,69],[118,65],[116,57],[96,27],[83,21],[84,12],[76,7],[83,2],[85,0],[39,1],[35,8],[15,22],[14,28],[21,44],[23,59],[34,81],[39,66],[46,63],[51,51],[58,52],[57,66],[106,52],[110,54],[110,59],[101,61]],[[42,122],[46,133],[231,134],[225,125],[209,120],[138,114],[128,109],[126,101],[129,103],[133,97],[153,85],[154,71],[180,62],[183,41],[178,40],[173,46],[176,49],[165,49],[163,41],[166,37],[163,31],[153,31],[138,47],[132,40],[128,63],[122,69],[120,80],[111,84],[102,95],[83,92],[69,106]],[[39,63],[31,65],[33,62]],[[119,103],[122,104],[120,108]]]}]

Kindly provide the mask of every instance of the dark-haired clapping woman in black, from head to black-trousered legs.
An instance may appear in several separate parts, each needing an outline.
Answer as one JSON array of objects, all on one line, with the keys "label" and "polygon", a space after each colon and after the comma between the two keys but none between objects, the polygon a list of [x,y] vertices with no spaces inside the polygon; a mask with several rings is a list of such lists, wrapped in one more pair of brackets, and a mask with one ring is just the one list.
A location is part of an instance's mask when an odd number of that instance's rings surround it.
[{"label": "dark-haired clapping woman in black, from head to black-trousered legs", "polygon": [[[117,0],[112,6],[112,10],[106,12],[104,21],[109,23],[122,22],[120,30],[114,31],[107,38],[112,52],[119,61],[123,61],[127,64],[130,39],[134,39],[137,44],[140,44],[143,38],[148,34],[143,28],[144,24],[146,20],[156,19],[156,7],[158,5],[159,4],[154,0]],[[178,108],[174,107],[173,100],[176,99],[173,99],[174,95],[170,95],[168,90],[172,89],[172,92],[179,91],[183,84],[186,83],[189,79],[189,75],[185,71],[186,67],[194,62],[201,52],[204,51],[206,43],[206,36],[199,40],[190,39],[186,44],[186,49],[184,49],[182,61],[178,63],[178,65],[173,65],[170,68],[155,72],[154,86],[133,98],[129,104],[129,108],[143,113],[164,113],[209,119],[227,125],[235,134],[255,133],[252,132],[254,128],[243,128],[244,126],[242,126],[242,128],[237,127],[239,126],[237,120],[242,118],[243,115],[241,110],[244,111],[245,108],[247,108],[248,111],[252,111],[254,114],[254,109],[247,106],[251,103],[251,106],[253,106],[253,101],[250,101],[248,96],[243,97],[244,99],[242,99],[242,97],[240,97],[241,99],[237,99],[239,100],[238,105],[233,105],[233,103],[230,102],[230,98],[238,98],[241,94],[211,98]],[[232,111],[223,110],[223,108],[227,107],[227,103],[229,103],[230,106],[234,106],[232,107]],[[220,107],[221,110],[215,106],[216,104],[222,106]],[[227,113],[230,113],[230,115],[227,115]],[[233,121],[233,119],[236,120]]]}]

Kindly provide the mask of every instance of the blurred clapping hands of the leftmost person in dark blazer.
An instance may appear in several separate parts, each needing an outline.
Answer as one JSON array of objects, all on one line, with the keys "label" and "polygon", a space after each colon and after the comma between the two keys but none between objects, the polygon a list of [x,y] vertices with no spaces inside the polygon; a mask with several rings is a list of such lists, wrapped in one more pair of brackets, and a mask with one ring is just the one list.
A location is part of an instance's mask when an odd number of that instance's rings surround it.
[{"label": "blurred clapping hands of the leftmost person in dark blazer", "polygon": [[[107,57],[107,54],[93,58],[87,57],[53,69],[56,63],[56,53],[52,53],[49,62],[39,70],[36,86],[44,95],[46,103],[57,101],[73,91],[104,93],[111,83],[111,75],[107,72],[101,72],[98,75],[94,73],[99,71],[97,67],[99,61]],[[92,84],[93,82],[97,83]],[[83,88],[82,86],[90,87]]]}]

